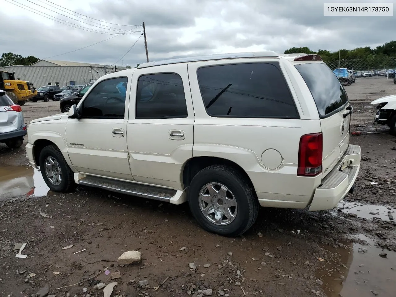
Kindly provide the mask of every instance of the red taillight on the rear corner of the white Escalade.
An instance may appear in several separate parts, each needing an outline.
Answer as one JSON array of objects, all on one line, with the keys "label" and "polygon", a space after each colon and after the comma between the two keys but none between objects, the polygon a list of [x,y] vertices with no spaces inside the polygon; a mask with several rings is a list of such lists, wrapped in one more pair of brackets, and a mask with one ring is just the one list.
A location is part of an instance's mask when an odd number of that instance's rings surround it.
[{"label": "red taillight on the rear corner of the white Escalade", "polygon": [[315,176],[322,172],[322,133],[306,134],[300,138],[298,151],[299,176]]}]

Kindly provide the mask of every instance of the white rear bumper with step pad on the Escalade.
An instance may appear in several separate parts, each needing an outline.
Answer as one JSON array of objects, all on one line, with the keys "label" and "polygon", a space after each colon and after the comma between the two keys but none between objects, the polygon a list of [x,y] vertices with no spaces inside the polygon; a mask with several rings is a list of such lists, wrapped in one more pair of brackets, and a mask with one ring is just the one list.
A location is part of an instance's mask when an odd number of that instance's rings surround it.
[{"label": "white rear bumper with step pad on the Escalade", "polygon": [[358,176],[360,158],[360,147],[349,145],[344,157],[316,188],[309,211],[332,209],[343,200]]}]

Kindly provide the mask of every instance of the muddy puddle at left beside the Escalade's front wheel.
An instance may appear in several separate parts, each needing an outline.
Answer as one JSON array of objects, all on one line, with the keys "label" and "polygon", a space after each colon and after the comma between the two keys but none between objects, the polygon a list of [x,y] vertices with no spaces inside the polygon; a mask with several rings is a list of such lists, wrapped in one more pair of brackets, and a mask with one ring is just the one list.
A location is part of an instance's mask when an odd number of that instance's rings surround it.
[{"label": "muddy puddle at left beside the Escalade's front wheel", "polygon": [[21,195],[42,197],[50,193],[37,169],[31,166],[0,167],[0,200]]}]

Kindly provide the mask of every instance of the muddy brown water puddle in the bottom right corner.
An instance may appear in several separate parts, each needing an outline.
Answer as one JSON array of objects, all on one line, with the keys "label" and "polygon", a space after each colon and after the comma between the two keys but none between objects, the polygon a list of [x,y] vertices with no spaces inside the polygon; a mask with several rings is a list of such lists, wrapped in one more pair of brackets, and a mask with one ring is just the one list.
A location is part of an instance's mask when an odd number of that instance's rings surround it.
[{"label": "muddy brown water puddle in the bottom right corner", "polygon": [[[373,240],[358,236],[368,245],[349,244],[329,248],[336,253],[326,268],[316,272],[328,297],[395,296],[396,253],[375,247]],[[327,247],[326,247],[327,248]],[[380,257],[386,253],[386,257]]]}]

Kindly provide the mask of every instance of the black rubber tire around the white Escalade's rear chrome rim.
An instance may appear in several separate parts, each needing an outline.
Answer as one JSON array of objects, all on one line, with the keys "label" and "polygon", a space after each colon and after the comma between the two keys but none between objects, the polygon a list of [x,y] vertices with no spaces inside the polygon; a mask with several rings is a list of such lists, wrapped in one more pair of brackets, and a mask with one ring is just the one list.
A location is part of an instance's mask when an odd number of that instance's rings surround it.
[{"label": "black rubber tire around the white Escalade's rear chrome rim", "polygon": [[[236,216],[227,225],[216,225],[209,221],[200,207],[200,192],[209,183],[219,183],[227,187],[236,200]],[[256,221],[259,202],[250,181],[238,170],[225,165],[212,165],[199,171],[188,187],[188,203],[194,218],[205,230],[223,235],[239,236]]]}]

